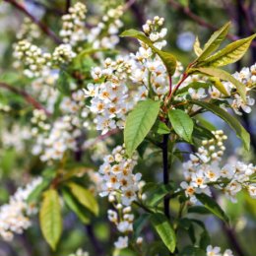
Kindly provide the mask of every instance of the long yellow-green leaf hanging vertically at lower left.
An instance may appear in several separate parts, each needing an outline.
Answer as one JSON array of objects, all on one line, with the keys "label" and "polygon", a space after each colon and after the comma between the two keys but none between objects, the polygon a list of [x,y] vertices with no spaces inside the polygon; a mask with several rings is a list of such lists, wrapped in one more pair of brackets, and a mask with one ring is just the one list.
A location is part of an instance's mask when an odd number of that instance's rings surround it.
[{"label": "long yellow-green leaf hanging vertically at lower left", "polygon": [[44,238],[55,250],[62,232],[61,208],[56,190],[49,189],[44,192],[39,220]]}]

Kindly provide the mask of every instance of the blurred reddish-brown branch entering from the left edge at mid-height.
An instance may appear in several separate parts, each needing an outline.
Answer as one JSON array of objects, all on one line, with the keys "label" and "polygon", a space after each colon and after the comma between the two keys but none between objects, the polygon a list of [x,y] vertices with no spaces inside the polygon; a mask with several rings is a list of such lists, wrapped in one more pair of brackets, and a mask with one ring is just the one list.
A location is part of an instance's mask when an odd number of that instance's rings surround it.
[{"label": "blurred reddish-brown branch entering from the left edge at mid-height", "polygon": [[51,113],[47,109],[45,109],[44,106],[40,102],[38,102],[36,99],[34,99],[32,96],[30,96],[27,92],[17,89],[15,87],[12,87],[5,83],[0,83],[0,88],[7,89],[8,91],[10,91],[16,95],[23,96],[26,99],[26,101],[28,103],[30,103],[34,108],[43,110],[45,112],[45,114],[48,116],[51,115]]}]

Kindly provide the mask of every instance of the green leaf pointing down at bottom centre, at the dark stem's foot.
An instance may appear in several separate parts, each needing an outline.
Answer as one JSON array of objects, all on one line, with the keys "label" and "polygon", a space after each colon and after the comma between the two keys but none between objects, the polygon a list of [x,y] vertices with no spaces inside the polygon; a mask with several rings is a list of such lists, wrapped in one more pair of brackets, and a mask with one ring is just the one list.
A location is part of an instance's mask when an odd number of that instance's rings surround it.
[{"label": "green leaf pointing down at bottom centre, at the dark stem's foot", "polygon": [[160,235],[162,242],[173,253],[176,247],[176,235],[169,220],[164,215],[156,213],[151,215],[150,222]]}]

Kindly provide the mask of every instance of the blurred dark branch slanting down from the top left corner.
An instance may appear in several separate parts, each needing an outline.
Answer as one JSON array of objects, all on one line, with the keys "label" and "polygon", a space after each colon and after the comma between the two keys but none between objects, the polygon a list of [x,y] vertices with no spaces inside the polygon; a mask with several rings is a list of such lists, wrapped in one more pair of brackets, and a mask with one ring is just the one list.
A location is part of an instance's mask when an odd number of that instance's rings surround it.
[{"label": "blurred dark branch slanting down from the top left corner", "polygon": [[56,43],[61,43],[62,40],[54,33],[52,32],[46,25],[42,24],[39,20],[37,20],[35,17],[32,16],[32,14],[20,3],[16,2],[15,0],[4,0],[7,3],[10,3],[13,5],[16,9],[23,12],[25,15],[27,15],[34,24],[36,24],[42,32],[47,34],[52,40],[54,40]]}]

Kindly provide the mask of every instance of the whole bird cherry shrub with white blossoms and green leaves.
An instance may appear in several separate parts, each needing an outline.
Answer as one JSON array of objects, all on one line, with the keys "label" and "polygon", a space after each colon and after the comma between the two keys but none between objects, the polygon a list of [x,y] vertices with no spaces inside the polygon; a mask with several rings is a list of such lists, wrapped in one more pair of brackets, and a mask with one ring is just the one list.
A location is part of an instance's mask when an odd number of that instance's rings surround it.
[{"label": "whole bird cherry shrub with white blossoms and green leaves", "polygon": [[[103,251],[104,243],[92,246],[94,254],[232,256],[211,245],[200,216],[230,224],[215,193],[231,203],[238,193],[255,199],[256,167],[226,158],[228,138],[204,113],[220,117],[249,151],[250,135],[235,114],[252,111],[256,65],[234,74],[222,67],[240,60],[256,35],[220,48],[227,23],[204,45],[195,40],[196,57],[184,68],[163,49],[167,29],[159,16],[142,32],[118,36],[124,10],[133,4],[107,6],[89,28],[87,7],[76,3],[62,17],[61,43],[53,49],[37,45],[38,33],[25,21],[14,66],[28,79],[30,96],[23,96],[36,108],[28,115],[26,142],[28,156],[39,163],[39,178],[0,208],[0,235],[12,240],[29,228],[33,206],[52,250],[63,243],[63,229],[70,231],[65,221],[73,213],[87,226],[92,244],[98,242],[95,224],[107,216],[114,232]],[[137,51],[116,50],[120,37],[138,39]],[[195,150],[182,151],[181,144]],[[233,249],[242,255],[240,246]],[[79,249],[75,255],[88,253]]]}]

